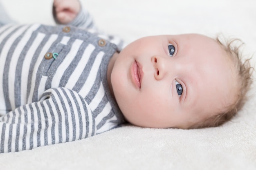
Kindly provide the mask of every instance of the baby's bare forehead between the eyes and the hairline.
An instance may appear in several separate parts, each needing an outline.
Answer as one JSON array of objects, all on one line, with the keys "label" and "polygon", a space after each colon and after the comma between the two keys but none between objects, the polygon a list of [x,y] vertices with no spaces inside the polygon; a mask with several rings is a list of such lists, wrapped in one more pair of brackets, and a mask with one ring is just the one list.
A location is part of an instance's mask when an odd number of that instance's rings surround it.
[{"label": "baby's bare forehead between the eyes and the hairline", "polygon": [[232,64],[224,49],[204,35],[177,35],[172,39],[177,43],[177,57],[183,57],[187,69],[184,77],[189,102],[184,108],[202,117],[222,110],[234,90]]}]

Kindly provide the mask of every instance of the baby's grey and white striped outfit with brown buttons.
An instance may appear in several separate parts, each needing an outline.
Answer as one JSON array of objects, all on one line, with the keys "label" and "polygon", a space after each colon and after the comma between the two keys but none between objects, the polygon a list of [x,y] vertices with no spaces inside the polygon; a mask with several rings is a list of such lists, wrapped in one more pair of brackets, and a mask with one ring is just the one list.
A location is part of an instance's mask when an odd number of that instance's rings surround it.
[{"label": "baby's grey and white striped outfit with brown buttons", "polygon": [[106,76],[122,42],[88,28],[94,24],[83,10],[70,26],[0,25],[0,153],[75,141],[125,122]]}]

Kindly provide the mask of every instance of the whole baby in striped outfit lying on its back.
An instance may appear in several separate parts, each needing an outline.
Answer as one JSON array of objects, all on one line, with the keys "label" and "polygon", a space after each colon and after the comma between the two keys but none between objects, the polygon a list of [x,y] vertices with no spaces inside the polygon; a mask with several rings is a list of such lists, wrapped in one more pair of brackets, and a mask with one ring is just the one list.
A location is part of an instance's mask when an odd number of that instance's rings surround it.
[{"label": "whole baby in striped outfit lying on its back", "polygon": [[54,0],[53,13],[62,25],[0,16],[0,153],[83,139],[127,121],[218,126],[243,106],[251,67],[232,41],[159,35],[124,47],[95,31],[78,0]]}]

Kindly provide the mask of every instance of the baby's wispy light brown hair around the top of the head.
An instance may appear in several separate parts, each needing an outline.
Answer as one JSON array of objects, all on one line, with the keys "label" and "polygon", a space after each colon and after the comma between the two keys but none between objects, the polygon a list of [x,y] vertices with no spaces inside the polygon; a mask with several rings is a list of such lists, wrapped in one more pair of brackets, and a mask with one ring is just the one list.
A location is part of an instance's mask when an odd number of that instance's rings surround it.
[{"label": "baby's wispy light brown hair around the top of the head", "polygon": [[[220,40],[220,36],[216,37],[218,44],[225,50],[227,55],[231,58],[231,61],[234,62],[235,70],[237,71],[237,77],[239,79],[238,85],[238,96],[236,101],[227,106],[225,111],[215,114],[212,117],[208,117],[204,121],[201,121],[197,124],[193,124],[189,128],[205,128],[205,127],[215,127],[224,124],[226,121],[229,121],[234,117],[238,110],[240,110],[247,100],[247,92],[252,84],[252,71],[254,70],[251,67],[250,59],[242,61],[242,55],[240,53],[240,47],[243,45],[239,39],[226,40],[224,43]],[[239,43],[239,45],[235,45]]]}]

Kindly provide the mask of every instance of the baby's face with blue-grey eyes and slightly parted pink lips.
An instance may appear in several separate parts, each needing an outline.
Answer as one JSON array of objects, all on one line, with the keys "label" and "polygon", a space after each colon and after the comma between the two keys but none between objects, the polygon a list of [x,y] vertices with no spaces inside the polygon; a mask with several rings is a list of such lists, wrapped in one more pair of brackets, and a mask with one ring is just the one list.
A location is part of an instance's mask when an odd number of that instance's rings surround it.
[{"label": "baby's face with blue-grey eyes and slightly parted pink lips", "polygon": [[115,99],[132,124],[187,128],[231,102],[233,68],[225,55],[215,40],[204,35],[141,38],[115,60],[111,73]]}]

